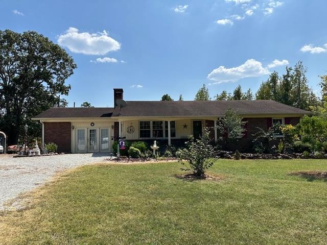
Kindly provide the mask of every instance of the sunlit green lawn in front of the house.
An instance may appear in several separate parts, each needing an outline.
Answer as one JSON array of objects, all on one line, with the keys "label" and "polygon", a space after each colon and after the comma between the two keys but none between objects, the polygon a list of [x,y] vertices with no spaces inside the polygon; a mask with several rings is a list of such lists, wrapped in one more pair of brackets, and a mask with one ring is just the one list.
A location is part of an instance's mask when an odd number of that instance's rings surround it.
[{"label": "sunlit green lawn in front of the house", "polygon": [[327,182],[287,175],[326,160],[219,160],[223,180],[180,163],[89,165],[0,213],[0,244],[326,244]]}]

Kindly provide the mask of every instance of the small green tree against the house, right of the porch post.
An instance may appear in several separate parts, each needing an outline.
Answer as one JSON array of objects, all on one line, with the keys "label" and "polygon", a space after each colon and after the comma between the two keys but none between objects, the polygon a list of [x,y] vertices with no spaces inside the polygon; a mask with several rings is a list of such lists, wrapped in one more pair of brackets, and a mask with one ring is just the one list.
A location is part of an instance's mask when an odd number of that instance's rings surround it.
[{"label": "small green tree against the house, right of the porch post", "polygon": [[225,116],[218,121],[217,125],[219,140],[224,142],[225,148],[230,140],[241,138],[244,135],[245,124],[246,121],[243,121],[236,111],[228,109],[225,112]]}]

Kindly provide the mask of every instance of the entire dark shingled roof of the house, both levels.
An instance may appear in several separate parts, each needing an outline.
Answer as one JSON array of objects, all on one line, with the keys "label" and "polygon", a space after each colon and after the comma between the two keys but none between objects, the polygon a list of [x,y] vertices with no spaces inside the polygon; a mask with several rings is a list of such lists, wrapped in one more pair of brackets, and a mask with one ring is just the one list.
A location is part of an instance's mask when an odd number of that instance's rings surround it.
[{"label": "entire dark shingled roof of the house, both levels", "polygon": [[220,116],[228,108],[240,115],[304,115],[309,111],[272,100],[256,101],[127,101],[121,109],[113,108],[50,108],[34,118],[110,117],[110,116]]}]

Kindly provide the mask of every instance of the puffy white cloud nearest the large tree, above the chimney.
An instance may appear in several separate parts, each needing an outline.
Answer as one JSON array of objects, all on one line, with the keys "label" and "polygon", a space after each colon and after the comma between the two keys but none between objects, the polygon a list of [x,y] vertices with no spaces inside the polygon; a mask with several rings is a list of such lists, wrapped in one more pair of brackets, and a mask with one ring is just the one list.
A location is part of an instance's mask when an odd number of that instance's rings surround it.
[{"label": "puffy white cloud nearest the large tree, above the chimney", "polygon": [[67,47],[69,51],[84,55],[105,55],[121,48],[121,44],[109,37],[106,31],[101,33],[79,32],[77,28],[69,27],[59,35],[58,44]]}]

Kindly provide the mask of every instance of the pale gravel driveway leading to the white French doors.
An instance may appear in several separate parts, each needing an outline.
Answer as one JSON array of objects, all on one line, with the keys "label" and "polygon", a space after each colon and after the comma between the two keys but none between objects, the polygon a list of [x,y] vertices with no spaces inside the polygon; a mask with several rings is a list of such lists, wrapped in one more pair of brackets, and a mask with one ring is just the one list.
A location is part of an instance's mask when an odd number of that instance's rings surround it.
[{"label": "pale gravel driveway leading to the white French doors", "polygon": [[0,155],[0,210],[4,202],[49,180],[58,171],[109,158],[108,153],[13,158]]}]

